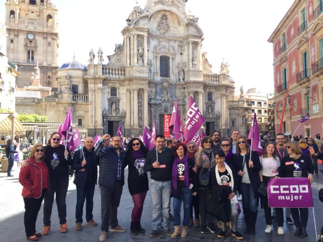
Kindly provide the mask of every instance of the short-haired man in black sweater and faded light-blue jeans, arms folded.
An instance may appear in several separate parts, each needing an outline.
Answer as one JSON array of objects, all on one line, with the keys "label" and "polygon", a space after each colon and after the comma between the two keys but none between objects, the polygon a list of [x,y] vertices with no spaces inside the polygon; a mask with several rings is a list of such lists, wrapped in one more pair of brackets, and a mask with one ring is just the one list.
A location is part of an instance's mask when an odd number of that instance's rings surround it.
[{"label": "short-haired man in black sweater and faded light-blue jeans, arms folded", "polygon": [[172,194],[173,150],[165,147],[165,137],[157,135],[156,147],[147,153],[143,169],[150,171],[150,193],[152,200],[152,231],[149,237],[155,237],[159,230],[171,236],[170,199]]}]

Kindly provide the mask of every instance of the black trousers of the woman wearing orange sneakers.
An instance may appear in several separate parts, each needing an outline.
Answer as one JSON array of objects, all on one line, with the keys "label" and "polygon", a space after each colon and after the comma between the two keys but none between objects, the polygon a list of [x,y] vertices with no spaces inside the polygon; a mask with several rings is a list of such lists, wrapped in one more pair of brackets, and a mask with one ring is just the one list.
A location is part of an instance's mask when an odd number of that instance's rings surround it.
[{"label": "black trousers of the woman wearing orange sneakers", "polygon": [[[50,178],[50,176],[49,176]],[[44,197],[44,226],[50,226],[50,216],[54,195],[56,195],[57,211],[60,224],[66,223],[66,194],[69,187],[69,176],[49,180],[49,193]]]}]

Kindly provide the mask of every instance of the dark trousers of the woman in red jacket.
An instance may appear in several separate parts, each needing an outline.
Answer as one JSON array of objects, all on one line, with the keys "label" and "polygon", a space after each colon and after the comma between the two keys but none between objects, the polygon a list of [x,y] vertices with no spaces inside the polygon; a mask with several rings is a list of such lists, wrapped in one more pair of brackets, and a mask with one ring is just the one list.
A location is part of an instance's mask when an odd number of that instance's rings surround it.
[{"label": "dark trousers of the woman in red jacket", "polygon": [[45,190],[43,189],[40,198],[24,198],[24,223],[27,237],[34,235],[36,232],[36,220],[41,207],[42,200],[44,199],[44,195]]}]

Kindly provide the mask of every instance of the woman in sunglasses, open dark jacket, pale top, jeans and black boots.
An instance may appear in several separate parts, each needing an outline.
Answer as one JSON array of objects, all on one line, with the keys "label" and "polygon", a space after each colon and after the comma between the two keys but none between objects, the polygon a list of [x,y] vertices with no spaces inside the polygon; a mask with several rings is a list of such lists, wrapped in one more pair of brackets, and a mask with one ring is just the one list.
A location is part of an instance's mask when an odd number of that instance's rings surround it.
[{"label": "woman in sunglasses, open dark jacket, pale top, jeans and black boots", "polygon": [[259,170],[261,164],[256,152],[251,152],[245,136],[238,139],[237,153],[235,154],[234,166],[239,176],[239,193],[242,195],[242,207],[246,222],[245,234],[254,235],[257,220],[258,193],[260,185]]}]

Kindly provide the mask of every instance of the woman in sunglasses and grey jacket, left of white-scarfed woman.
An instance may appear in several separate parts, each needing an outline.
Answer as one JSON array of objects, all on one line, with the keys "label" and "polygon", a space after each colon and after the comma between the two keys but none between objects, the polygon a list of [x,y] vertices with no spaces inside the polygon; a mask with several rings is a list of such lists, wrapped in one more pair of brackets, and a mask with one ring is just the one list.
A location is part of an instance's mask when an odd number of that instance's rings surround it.
[{"label": "woman in sunglasses and grey jacket, left of white-scarfed woman", "polygon": [[[198,168],[197,170],[197,177],[198,177],[198,191],[197,194],[200,198],[199,203],[199,210],[200,210],[200,216],[201,216],[201,233],[207,233],[207,230],[209,230],[211,233],[216,233],[217,228],[213,224],[213,216],[210,213],[207,213],[207,198],[209,197],[209,184],[207,182],[207,185],[200,180],[200,173],[202,168],[205,169],[211,169],[214,168],[216,165],[215,158],[212,152],[212,144],[213,141],[209,136],[205,136],[201,140],[201,144],[198,147],[198,151],[195,153],[195,164]],[[202,171],[203,172],[203,171]],[[207,179],[209,180],[209,178]],[[202,185],[204,184],[204,185]],[[207,216],[207,225],[206,225],[206,216]]]}]

